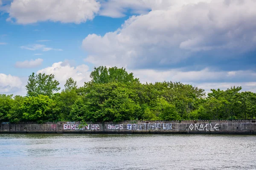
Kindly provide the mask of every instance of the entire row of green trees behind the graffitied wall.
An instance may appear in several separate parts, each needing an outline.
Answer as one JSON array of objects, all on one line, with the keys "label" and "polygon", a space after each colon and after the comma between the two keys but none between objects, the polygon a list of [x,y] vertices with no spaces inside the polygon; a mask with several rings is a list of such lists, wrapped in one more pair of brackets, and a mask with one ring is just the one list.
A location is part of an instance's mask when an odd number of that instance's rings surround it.
[{"label": "entire row of green trees behind the graffitied wall", "polygon": [[59,93],[54,75],[32,74],[26,96],[0,95],[0,122],[256,119],[256,94],[180,82],[140,83],[124,68],[94,68],[91,81],[72,78]]}]

